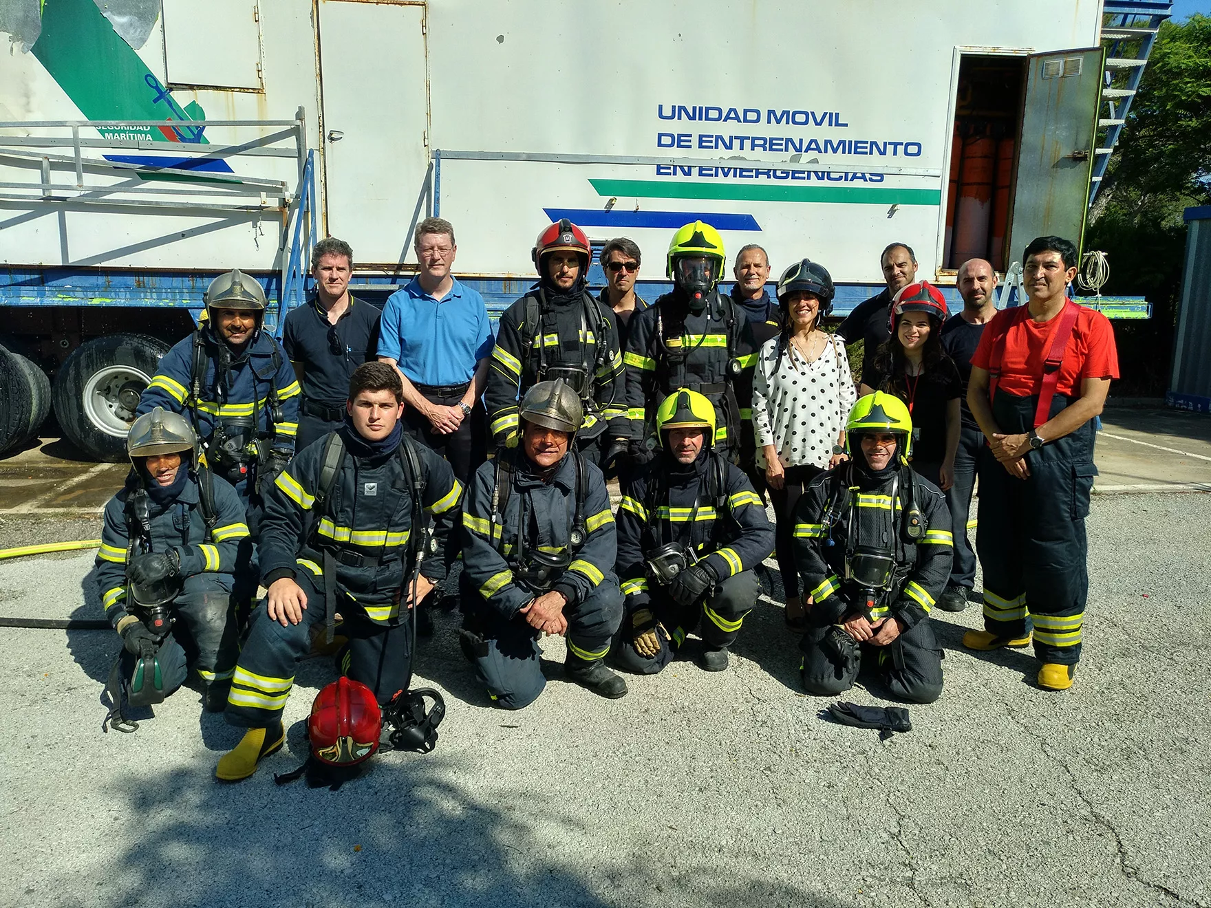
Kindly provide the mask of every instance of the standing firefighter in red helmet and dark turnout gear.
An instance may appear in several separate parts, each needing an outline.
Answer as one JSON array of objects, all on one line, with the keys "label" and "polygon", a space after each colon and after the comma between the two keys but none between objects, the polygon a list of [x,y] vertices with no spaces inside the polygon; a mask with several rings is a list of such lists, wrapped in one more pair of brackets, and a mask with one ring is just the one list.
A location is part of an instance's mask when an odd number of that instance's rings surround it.
[{"label": "standing firefighter in red helmet and dark turnout gear", "polygon": [[539,381],[563,379],[580,398],[576,446],[593,464],[626,450],[630,423],[613,310],[586,289],[589,237],[567,218],[530,251],[539,281],[500,317],[484,402],[497,448],[520,437],[517,402]]}]

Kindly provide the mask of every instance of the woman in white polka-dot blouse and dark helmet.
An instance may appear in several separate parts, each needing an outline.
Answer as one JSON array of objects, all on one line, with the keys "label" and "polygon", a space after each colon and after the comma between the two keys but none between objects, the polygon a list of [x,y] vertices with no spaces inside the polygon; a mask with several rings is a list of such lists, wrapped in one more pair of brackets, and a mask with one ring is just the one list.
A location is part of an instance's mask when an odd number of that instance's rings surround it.
[{"label": "woman in white polka-dot blouse and dark helmet", "polygon": [[794,505],[822,470],[845,459],[845,420],[857,400],[844,344],[820,326],[832,311],[833,282],[803,259],[777,281],[781,329],[767,340],[753,370],[757,466],[765,471],[777,519],[775,553],[786,594],[786,623],[805,627],[792,535]]}]

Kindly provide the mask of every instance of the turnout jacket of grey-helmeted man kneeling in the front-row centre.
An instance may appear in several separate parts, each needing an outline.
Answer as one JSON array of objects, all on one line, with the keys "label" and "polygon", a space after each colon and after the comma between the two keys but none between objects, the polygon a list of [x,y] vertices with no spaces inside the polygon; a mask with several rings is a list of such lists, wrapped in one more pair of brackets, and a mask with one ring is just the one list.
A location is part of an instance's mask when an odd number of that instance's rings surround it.
[{"label": "turnout jacket of grey-helmeted man kneeling in the front-row centre", "polygon": [[[471,478],[463,506],[463,570],[471,586],[480,592],[488,609],[505,620],[534,598],[534,592],[515,576],[520,568],[521,533],[526,534],[527,550],[566,552],[576,511],[576,459],[569,452],[558,464],[550,482],[533,472],[520,450],[501,456],[512,470],[501,469],[501,482],[511,489],[504,501],[499,523],[492,519],[493,490],[497,485],[497,465],[489,460]],[[584,602],[602,582],[613,581],[618,540],[614,516],[609,507],[609,492],[602,471],[580,458],[585,483],[581,518],[585,541],[574,550],[572,563],[552,586],[568,598],[569,605]],[[526,525],[521,523],[524,519]]]}]

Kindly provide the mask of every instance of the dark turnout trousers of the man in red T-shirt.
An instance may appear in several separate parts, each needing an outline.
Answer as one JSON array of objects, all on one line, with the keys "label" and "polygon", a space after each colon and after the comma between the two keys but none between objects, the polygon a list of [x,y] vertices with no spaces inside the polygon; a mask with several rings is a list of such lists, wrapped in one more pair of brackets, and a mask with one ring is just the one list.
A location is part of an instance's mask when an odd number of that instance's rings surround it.
[{"label": "dark turnout trousers of the man in red T-shirt", "polygon": [[[993,416],[1003,432],[1028,432],[1035,397],[998,390]],[[1051,415],[1068,406],[1056,395]],[[1092,420],[1026,455],[1031,475],[1010,476],[993,456],[980,465],[976,548],[983,567],[985,630],[997,637],[1034,633],[1044,662],[1080,661],[1089,596],[1085,517],[1097,467]]]}]

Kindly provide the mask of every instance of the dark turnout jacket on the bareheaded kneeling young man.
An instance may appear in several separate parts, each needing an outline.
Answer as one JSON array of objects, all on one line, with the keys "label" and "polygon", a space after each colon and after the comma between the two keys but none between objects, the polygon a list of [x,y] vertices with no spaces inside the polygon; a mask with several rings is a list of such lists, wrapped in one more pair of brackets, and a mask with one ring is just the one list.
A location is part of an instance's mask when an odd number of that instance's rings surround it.
[{"label": "dark turnout jacket on the bareheaded kneeling young man", "polygon": [[[348,439],[352,430],[338,431]],[[432,519],[436,551],[441,552],[458,517],[463,485],[442,458],[424,444],[413,447],[425,476],[421,504]],[[403,452],[396,446],[375,456],[358,456],[346,441],[344,461],[321,511],[316,490],[325,448],[326,443],[317,441],[299,452],[265,496],[258,544],[262,582],[269,586],[308,571],[322,588],[327,550],[335,559],[338,602],[357,603],[371,621],[391,623],[400,614],[401,587],[411,581],[404,571],[409,567],[413,490],[401,462]],[[431,552],[426,556],[420,573],[434,582],[442,580],[444,559]]]}]

